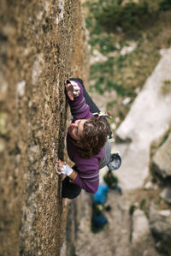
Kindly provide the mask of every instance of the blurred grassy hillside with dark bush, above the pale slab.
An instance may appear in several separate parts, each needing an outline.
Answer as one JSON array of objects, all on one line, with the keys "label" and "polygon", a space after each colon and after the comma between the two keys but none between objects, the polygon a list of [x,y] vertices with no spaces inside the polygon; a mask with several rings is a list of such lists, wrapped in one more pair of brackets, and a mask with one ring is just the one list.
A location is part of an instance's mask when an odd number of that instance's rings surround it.
[{"label": "blurred grassy hillside with dark bush, above the pale slab", "polygon": [[[108,60],[91,65],[91,89],[103,94],[117,92],[117,98],[109,97],[107,109],[122,120],[130,104],[122,104],[123,98],[131,102],[144,85],[158,62],[159,49],[171,45],[169,13],[163,6],[171,0],[139,0],[138,3],[123,0],[86,0],[86,27],[90,34],[91,53],[96,49]],[[168,5],[167,5],[168,6]],[[164,24],[164,26],[163,26]],[[135,49],[122,55],[125,46]],[[127,47],[126,47],[127,49]],[[164,89],[168,85],[164,85]],[[116,101],[117,102],[116,102]],[[115,104],[115,108],[112,106]]]}]

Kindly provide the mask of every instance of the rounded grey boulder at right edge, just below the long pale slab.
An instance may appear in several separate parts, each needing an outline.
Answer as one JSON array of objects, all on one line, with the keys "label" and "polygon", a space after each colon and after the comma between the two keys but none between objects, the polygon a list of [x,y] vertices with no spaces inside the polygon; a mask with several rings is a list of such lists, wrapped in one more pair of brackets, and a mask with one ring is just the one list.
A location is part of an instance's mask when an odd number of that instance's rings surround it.
[{"label": "rounded grey boulder at right edge, just below the long pale slab", "polygon": [[151,170],[162,178],[171,177],[171,133],[157,149],[152,159]]}]

